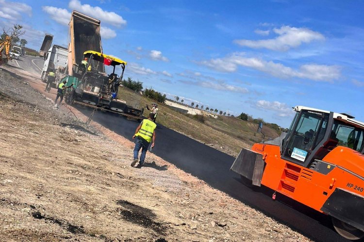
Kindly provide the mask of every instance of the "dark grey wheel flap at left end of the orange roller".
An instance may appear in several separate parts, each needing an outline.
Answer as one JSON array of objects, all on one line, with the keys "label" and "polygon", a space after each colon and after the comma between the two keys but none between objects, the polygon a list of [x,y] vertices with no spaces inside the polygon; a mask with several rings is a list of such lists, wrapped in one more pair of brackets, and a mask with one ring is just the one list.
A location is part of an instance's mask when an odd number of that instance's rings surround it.
[{"label": "dark grey wheel flap at left end of the orange roller", "polygon": [[264,170],[263,156],[243,148],[230,169],[252,181],[253,185],[261,186]]}]

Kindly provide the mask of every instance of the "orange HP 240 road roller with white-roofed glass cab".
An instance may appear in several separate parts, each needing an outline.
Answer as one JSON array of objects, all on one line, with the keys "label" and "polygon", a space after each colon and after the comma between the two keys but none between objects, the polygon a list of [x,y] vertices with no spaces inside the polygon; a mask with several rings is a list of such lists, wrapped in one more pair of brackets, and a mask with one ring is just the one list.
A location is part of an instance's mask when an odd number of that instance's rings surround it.
[{"label": "orange HP 240 road roller with white-roofed glass cab", "polygon": [[242,149],[231,170],[331,216],[349,240],[364,238],[364,123],[345,113],[295,106],[286,134]]}]

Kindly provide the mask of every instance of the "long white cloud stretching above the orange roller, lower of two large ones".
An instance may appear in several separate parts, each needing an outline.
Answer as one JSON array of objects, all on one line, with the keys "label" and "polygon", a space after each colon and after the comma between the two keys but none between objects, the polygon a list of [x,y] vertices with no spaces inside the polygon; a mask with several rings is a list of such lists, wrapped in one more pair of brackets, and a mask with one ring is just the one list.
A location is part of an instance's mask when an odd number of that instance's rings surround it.
[{"label": "long white cloud stretching above the orange roller, lower of two large ones", "polygon": [[211,59],[198,63],[221,72],[235,72],[238,66],[244,66],[280,78],[298,77],[315,81],[332,81],[341,76],[340,67],[336,65],[305,64],[295,70],[281,63],[248,58],[244,53],[233,53],[222,59]]}]

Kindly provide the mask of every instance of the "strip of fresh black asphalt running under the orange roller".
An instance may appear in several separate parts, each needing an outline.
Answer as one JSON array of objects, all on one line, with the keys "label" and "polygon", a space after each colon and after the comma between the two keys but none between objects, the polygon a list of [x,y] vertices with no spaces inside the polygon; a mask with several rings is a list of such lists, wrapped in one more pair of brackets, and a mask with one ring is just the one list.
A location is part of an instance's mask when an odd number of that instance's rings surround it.
[{"label": "strip of fresh black asphalt running under the orange roller", "polygon": [[[24,62],[31,60],[31,57],[24,58]],[[31,64],[30,62],[26,66]],[[77,108],[87,116],[92,112],[92,109],[88,107],[78,106]],[[129,140],[132,140],[134,131],[138,126],[136,121],[106,112],[96,112],[93,120]],[[270,189],[260,188],[256,190],[243,185],[240,182],[240,177],[230,171],[234,161],[234,157],[230,155],[160,124],[156,129],[156,143],[153,152],[207,182],[212,187],[264,212],[267,216],[298,230],[314,241],[347,241],[333,230],[331,221],[327,216],[284,196],[278,195],[276,201],[273,201],[271,198],[273,191]],[[148,162],[148,153],[146,162]]]}]

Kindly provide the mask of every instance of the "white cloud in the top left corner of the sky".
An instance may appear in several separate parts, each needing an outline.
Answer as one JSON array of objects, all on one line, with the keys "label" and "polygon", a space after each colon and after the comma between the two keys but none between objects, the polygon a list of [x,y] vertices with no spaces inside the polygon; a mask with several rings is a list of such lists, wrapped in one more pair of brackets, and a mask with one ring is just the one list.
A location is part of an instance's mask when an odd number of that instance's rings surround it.
[{"label": "white cloud in the top left corner of the sky", "polygon": [[32,7],[25,3],[0,0],[1,18],[19,20],[23,14],[32,16]]}]

